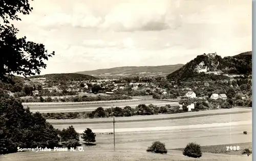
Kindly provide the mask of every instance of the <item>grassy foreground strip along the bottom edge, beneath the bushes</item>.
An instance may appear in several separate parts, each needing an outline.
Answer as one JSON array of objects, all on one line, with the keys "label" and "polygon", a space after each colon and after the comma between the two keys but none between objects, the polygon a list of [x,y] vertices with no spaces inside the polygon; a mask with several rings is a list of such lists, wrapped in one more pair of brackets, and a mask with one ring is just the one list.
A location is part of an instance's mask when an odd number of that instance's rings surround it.
[{"label": "grassy foreground strip along the bottom edge, beneath the bushes", "polygon": [[154,154],[147,153],[145,150],[120,150],[116,151],[109,149],[98,148],[86,148],[84,151],[79,152],[23,152],[14,153],[0,156],[0,160],[4,161],[34,161],[34,160],[49,160],[49,161],[62,161],[62,160],[72,160],[72,161],[117,161],[117,160],[173,160],[173,161],[247,161],[252,160],[251,155],[247,156],[237,156],[237,155],[225,155],[225,154],[211,154],[203,153],[203,156],[199,159],[186,157],[182,155],[182,152],[176,150],[169,150],[167,154]]}]

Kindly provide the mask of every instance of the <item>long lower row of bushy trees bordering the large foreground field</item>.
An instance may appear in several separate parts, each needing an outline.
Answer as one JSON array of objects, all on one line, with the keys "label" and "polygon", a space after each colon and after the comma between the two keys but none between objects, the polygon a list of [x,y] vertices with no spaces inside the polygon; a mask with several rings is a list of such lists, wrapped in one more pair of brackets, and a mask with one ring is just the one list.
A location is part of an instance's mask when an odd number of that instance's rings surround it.
[{"label": "long lower row of bushy trees bordering the large foreground field", "polygon": [[[181,100],[181,104],[189,104],[191,100]],[[223,103],[222,103],[223,104]],[[106,118],[106,117],[131,117],[136,115],[151,115],[151,114],[159,114],[159,113],[179,113],[186,112],[187,107],[183,106],[183,109],[180,110],[179,106],[156,106],[153,104],[145,105],[139,104],[136,108],[132,108],[130,106],[125,106],[124,108],[120,107],[112,107],[112,108],[103,108],[98,107],[92,112],[58,112],[58,113],[42,113],[42,115],[46,119],[76,119],[76,118]],[[228,106],[224,106],[223,104],[220,108],[231,108],[230,104]],[[205,101],[198,101],[195,104],[195,111],[206,110],[206,109],[216,109],[218,108],[218,102],[208,104]]]}]

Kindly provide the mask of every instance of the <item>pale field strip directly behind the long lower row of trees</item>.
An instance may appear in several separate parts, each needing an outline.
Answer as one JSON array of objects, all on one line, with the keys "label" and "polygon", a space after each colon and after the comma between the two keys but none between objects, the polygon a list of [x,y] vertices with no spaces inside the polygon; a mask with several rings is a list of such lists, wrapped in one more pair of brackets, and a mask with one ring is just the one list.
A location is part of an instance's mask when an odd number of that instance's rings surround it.
[{"label": "pale field strip directly behind the long lower row of trees", "polygon": [[[146,105],[157,105],[157,106],[165,106],[167,104],[172,105],[172,106],[178,106],[179,104],[176,102],[165,102],[165,103],[156,103],[156,101],[144,101],[144,102],[118,102],[118,103],[113,103],[113,104],[94,104],[92,105],[83,105],[80,106],[80,108],[75,108],[77,106],[58,106],[58,107],[30,107],[31,112],[36,112],[39,111],[41,113],[47,113],[47,112],[82,112],[82,111],[93,111],[97,109],[98,107],[103,107],[103,108],[111,108],[111,107],[121,107],[124,108],[125,106],[130,106],[132,108],[135,108],[139,104],[146,104]],[[25,106],[26,107],[26,106]]]}]

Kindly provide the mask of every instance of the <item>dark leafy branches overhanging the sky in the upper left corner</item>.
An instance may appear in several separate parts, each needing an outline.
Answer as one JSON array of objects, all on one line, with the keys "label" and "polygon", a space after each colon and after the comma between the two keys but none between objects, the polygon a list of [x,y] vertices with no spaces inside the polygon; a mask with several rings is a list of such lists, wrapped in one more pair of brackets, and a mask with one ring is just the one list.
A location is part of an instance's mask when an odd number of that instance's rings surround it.
[{"label": "dark leafy branches overhanging the sky in the upper left corner", "polygon": [[40,74],[46,68],[44,60],[54,55],[48,54],[44,44],[27,41],[26,37],[17,38],[18,29],[10,24],[11,20],[21,20],[18,13],[29,14],[32,8],[28,0],[13,0],[0,2],[0,17],[4,24],[0,24],[0,80],[10,81],[8,76],[13,74],[24,77]]}]

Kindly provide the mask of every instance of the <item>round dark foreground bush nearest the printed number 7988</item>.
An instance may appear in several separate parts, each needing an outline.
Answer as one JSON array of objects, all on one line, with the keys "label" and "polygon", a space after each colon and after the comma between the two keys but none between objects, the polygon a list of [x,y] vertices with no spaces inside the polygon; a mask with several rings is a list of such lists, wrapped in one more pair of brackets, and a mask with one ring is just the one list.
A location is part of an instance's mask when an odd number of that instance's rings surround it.
[{"label": "round dark foreground bush nearest the printed number 7988", "polygon": [[183,155],[199,158],[202,156],[201,146],[196,143],[188,143],[183,150]]}]

